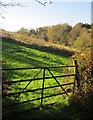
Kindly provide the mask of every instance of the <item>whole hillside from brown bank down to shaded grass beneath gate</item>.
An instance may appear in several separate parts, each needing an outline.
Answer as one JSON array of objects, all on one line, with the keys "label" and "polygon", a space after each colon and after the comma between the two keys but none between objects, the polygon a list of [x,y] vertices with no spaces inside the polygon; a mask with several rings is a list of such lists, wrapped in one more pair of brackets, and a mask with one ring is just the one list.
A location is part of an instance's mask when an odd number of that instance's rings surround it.
[{"label": "whole hillside from brown bank down to shaded grass beneath gate", "polygon": [[[3,68],[20,68],[20,67],[41,67],[41,66],[61,66],[61,65],[71,65],[71,57],[75,53],[79,53],[77,50],[70,49],[68,47],[65,47],[63,45],[56,45],[53,43],[45,42],[42,40],[33,39],[28,36],[21,36],[18,33],[11,33],[7,31],[2,31],[3,34],[0,36],[2,37],[2,60],[3,60]],[[52,73],[54,75],[63,75],[64,73],[72,72],[72,70],[63,70],[63,69],[55,69],[52,70]],[[24,71],[8,71],[3,73],[3,78],[6,77],[7,80],[26,80],[31,79],[36,74],[37,71],[31,71],[31,70],[24,70]],[[5,76],[4,76],[5,75]],[[46,72],[46,75],[48,76],[49,73]],[[39,77],[42,76],[39,74]],[[72,81],[73,78],[64,78],[64,79],[58,79],[61,83],[66,83]],[[32,82],[31,82],[32,83]],[[51,85],[56,85],[56,82],[49,79],[49,81],[46,81],[45,86],[49,87]],[[17,83],[14,85],[9,85],[9,92],[17,92],[20,90],[23,90],[26,86],[26,83]],[[30,84],[27,87],[27,90],[31,88],[39,88],[42,86],[41,82],[34,82]],[[73,87],[73,86],[71,86]],[[50,91],[46,91],[45,95],[50,95],[50,93],[57,93],[60,92],[60,89],[53,89]],[[17,99],[17,101],[26,101],[30,100],[31,98],[40,97],[40,92],[35,92],[34,94],[26,93],[21,94],[21,96]],[[15,97],[15,96],[14,96]],[[3,99],[3,105],[13,102],[14,97],[9,97],[8,99]],[[16,118],[35,118],[37,117],[44,117],[44,118],[69,118],[69,119],[81,119],[82,113],[81,111],[72,106],[68,106],[69,101],[68,98],[64,96],[60,97],[53,97],[51,99],[47,99],[44,101],[44,103],[56,103],[52,105],[52,109],[40,109],[38,112],[27,112],[26,114],[23,114],[21,116],[16,116]],[[32,104],[26,104],[22,105],[21,107],[15,106],[14,109],[7,110],[4,109],[4,114],[15,112],[17,110],[21,109],[28,109],[33,106],[38,106],[39,102],[33,102]],[[31,116],[30,116],[31,115]],[[11,116],[12,118],[14,116]],[[6,118],[5,118],[6,119]]]}]

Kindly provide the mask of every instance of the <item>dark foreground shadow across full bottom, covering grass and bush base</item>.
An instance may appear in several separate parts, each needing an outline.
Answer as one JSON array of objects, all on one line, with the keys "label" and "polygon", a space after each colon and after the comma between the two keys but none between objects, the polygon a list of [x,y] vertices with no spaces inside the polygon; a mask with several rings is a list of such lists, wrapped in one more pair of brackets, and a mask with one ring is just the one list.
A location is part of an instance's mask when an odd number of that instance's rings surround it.
[{"label": "dark foreground shadow across full bottom, covering grass and bush base", "polygon": [[[81,96],[81,99],[77,98],[78,94],[72,94],[69,97],[68,104],[66,103],[51,103],[50,105],[44,105],[43,108],[35,109],[34,103],[22,104],[20,107],[14,106],[10,109],[3,109],[2,120],[31,120],[31,119],[58,119],[58,120],[92,120],[93,119],[93,94],[90,91],[88,97]],[[83,99],[83,100],[82,100]],[[83,102],[82,102],[83,101]],[[11,102],[10,100],[6,100]],[[4,103],[5,104],[5,103]],[[8,111],[10,110],[10,111]],[[18,112],[22,110],[22,112]],[[5,115],[5,113],[10,115]]]}]

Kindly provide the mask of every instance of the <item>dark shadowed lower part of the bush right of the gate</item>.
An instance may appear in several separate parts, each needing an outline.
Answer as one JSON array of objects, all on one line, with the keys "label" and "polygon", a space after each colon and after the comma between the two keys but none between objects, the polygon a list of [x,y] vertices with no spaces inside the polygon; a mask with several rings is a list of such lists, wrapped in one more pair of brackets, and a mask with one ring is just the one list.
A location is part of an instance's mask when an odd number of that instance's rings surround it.
[{"label": "dark shadowed lower part of the bush right of the gate", "polygon": [[89,85],[87,91],[83,89],[70,97],[70,105],[77,110],[83,119],[93,118],[93,85]]}]

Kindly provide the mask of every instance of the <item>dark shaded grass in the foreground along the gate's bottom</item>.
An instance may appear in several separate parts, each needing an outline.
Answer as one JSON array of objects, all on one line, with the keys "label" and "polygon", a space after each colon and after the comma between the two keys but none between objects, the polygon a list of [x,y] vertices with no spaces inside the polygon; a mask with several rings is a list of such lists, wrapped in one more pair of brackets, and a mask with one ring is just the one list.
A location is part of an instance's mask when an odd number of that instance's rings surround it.
[{"label": "dark shaded grass in the foreground along the gate's bottom", "polygon": [[[30,105],[31,106],[31,105]],[[34,105],[32,105],[34,106]],[[2,120],[31,120],[31,119],[58,119],[58,120],[87,120],[83,111],[78,110],[72,105],[54,104],[45,106],[42,109],[29,109],[23,112],[17,112],[18,107],[10,115],[3,116]],[[25,107],[23,107],[25,109]],[[3,111],[5,112],[5,111]]]}]

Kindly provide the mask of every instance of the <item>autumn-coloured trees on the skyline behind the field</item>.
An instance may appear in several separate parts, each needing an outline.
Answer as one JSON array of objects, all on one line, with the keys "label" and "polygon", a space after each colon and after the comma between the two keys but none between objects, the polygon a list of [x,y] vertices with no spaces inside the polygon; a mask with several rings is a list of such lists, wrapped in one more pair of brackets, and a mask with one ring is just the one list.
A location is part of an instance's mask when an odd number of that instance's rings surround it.
[{"label": "autumn-coloured trees on the skyline behind the field", "polygon": [[50,27],[39,27],[36,30],[21,28],[17,33],[56,44],[64,44],[66,46],[84,49],[90,46],[91,25],[87,23],[77,23],[72,27],[65,23]]}]

